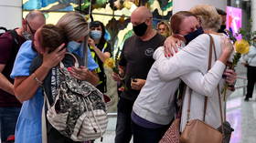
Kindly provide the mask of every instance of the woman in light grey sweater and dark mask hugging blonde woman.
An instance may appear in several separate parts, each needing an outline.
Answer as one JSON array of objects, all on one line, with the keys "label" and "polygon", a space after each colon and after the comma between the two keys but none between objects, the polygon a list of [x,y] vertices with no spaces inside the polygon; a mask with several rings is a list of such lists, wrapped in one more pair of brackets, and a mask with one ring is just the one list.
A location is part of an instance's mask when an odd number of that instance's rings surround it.
[{"label": "woman in light grey sweater and dark mask hugging blonde woman", "polygon": [[[191,32],[196,32],[195,36],[198,36],[203,33],[197,20],[197,15],[193,15],[191,12],[177,12],[175,15],[172,15],[170,22],[174,33],[173,36],[186,36]],[[180,39],[185,40],[184,37]],[[198,69],[189,69],[189,67],[181,65],[180,68],[184,67],[185,70],[190,71],[175,78],[169,78],[165,76],[165,73],[168,72],[169,68],[178,66],[179,61],[176,61],[177,65],[169,65],[168,62],[171,61],[173,57],[167,59],[164,56],[164,47],[160,46],[155,50],[155,63],[147,75],[144,87],[133,104],[132,127],[134,143],[156,143],[163,137],[165,130],[169,128],[176,114],[175,93],[179,87],[180,79],[200,95],[211,95],[212,92],[216,90],[225,69],[224,64],[232,51],[228,39],[222,39],[221,41],[223,41],[223,45],[220,47],[219,44],[218,61],[215,63],[212,62],[213,66],[209,71],[204,70],[204,74],[202,74],[202,71]],[[186,48],[187,47],[184,47],[183,49],[186,50]],[[203,49],[204,47],[197,48]],[[207,50],[201,51],[207,52]],[[195,56],[197,55],[198,54]],[[198,58],[204,57],[198,56]],[[185,60],[188,65],[193,63],[188,59]],[[204,64],[204,62],[205,61],[201,61],[201,64]],[[165,69],[167,71],[165,71]],[[180,69],[180,71],[182,70],[183,69]],[[179,92],[185,93],[183,90]]]}]

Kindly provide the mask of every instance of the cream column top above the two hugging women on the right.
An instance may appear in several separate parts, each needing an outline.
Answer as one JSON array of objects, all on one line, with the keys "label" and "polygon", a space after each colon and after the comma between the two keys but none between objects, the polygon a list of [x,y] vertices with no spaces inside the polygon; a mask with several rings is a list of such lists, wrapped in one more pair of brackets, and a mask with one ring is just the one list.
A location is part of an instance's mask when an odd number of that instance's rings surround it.
[{"label": "cream column top above the two hugging women on the right", "polygon": [[227,0],[174,0],[174,14],[181,10],[189,10],[199,4],[208,4],[226,10]]}]

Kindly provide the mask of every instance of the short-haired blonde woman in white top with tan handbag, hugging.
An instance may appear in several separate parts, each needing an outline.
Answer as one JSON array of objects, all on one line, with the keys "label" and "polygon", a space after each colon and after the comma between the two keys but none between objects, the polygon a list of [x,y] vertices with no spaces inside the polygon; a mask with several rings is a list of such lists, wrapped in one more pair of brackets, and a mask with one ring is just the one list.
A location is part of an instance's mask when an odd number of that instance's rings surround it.
[{"label": "short-haired blonde woman in white top with tan handbag, hugging", "polygon": [[[221,25],[220,16],[218,15],[216,8],[212,5],[196,5],[190,9],[194,15],[197,15],[200,25],[205,33],[213,37],[213,41],[216,46],[216,55],[217,58],[212,55],[212,65],[214,63],[219,63],[219,56],[221,55],[221,39],[224,37],[222,34],[217,33]],[[187,24],[181,25],[183,29],[188,29]],[[203,75],[208,72],[208,58],[209,58],[209,46],[210,46],[210,37],[207,34],[202,34],[198,36],[198,29],[192,29],[191,32],[187,35],[178,35],[181,38],[186,40],[186,43],[189,43],[187,46],[182,48],[179,52],[174,54],[171,58],[163,58],[163,66],[159,68],[159,73],[161,77],[166,77],[168,79],[173,79],[176,77],[181,77],[192,71],[199,71]],[[189,29],[188,29],[189,31]],[[182,30],[180,31],[182,32]],[[179,41],[178,43],[176,43]],[[190,42],[191,41],[191,42]],[[170,55],[170,51],[173,51],[174,46],[180,44],[180,40],[174,37],[168,37],[165,41],[165,55]],[[230,44],[231,45],[231,44]],[[230,46],[232,47],[232,46]],[[176,51],[176,50],[174,50]],[[212,52],[214,53],[214,52]],[[224,63],[225,64],[225,63]],[[211,65],[211,66],[212,66]],[[221,69],[225,68],[226,65],[220,64]],[[226,81],[229,83],[234,83],[236,74],[233,70],[226,70],[225,75],[229,75],[226,78]],[[217,78],[217,77],[215,77]],[[194,82],[199,82],[195,78]],[[190,117],[187,118],[187,109],[188,109],[188,98],[189,92],[188,88],[186,90],[185,99],[182,107],[182,117],[181,117],[181,130],[184,130],[187,119],[204,119],[204,104],[205,97],[208,97],[207,110],[205,115],[205,122],[212,126],[213,128],[219,128],[221,125],[220,122],[220,110],[219,110],[219,90],[223,89],[225,80],[222,78],[219,81],[219,87],[215,87],[212,92],[208,94],[199,94],[196,91],[191,93],[191,105],[190,105]],[[193,83],[192,83],[193,84]],[[204,87],[208,87],[208,84],[211,82],[205,83]],[[191,88],[191,87],[190,87]],[[219,88],[219,89],[218,89]],[[223,98],[223,97],[221,97]],[[221,100],[221,105],[223,105],[223,100]],[[223,106],[221,108],[223,110]],[[223,115],[224,116],[224,115]]]}]

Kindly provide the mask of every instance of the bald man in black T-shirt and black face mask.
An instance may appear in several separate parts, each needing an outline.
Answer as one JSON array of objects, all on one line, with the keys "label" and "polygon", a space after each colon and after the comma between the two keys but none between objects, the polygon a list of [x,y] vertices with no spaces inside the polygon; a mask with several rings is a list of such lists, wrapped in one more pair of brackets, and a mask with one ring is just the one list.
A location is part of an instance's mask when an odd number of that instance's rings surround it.
[{"label": "bald man in black T-shirt and black face mask", "polygon": [[[144,87],[149,69],[155,62],[153,59],[155,49],[163,46],[165,41],[165,37],[157,34],[153,29],[152,18],[153,15],[144,6],[136,8],[131,16],[135,35],[125,40],[119,63],[127,88],[118,102],[115,143],[129,143],[132,138],[133,103]],[[113,77],[118,80],[117,75]],[[134,117],[138,118],[137,115]]]}]

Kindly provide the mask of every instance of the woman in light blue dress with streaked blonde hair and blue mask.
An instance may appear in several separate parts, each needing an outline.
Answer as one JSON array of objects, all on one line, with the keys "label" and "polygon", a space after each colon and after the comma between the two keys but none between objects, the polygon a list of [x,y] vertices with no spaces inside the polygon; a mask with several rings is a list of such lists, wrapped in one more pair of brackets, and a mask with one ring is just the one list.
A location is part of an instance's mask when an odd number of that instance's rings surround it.
[{"label": "woman in light blue dress with streaked blonde hair and blue mask", "polygon": [[[86,80],[90,82],[92,85],[96,86],[99,82],[99,77],[94,72],[98,65],[91,57],[90,50],[83,51],[84,42],[87,40],[87,36],[89,34],[88,23],[84,19],[84,17],[78,13],[68,13],[63,15],[59,19],[58,23],[59,29],[62,30],[61,36],[65,36],[67,43],[64,48],[64,44],[59,46],[56,50],[51,53],[48,51],[42,50],[44,49],[38,37],[41,34],[41,30],[37,32],[37,36],[35,36],[35,40],[33,42],[27,41],[22,48],[19,50],[18,55],[16,56],[16,63],[11,74],[11,77],[15,77],[15,93],[16,97],[24,102],[23,108],[26,108],[26,113],[20,115],[20,119],[23,120],[16,127],[16,135],[22,136],[22,139],[16,140],[16,142],[42,142],[42,132],[41,132],[41,114],[43,107],[43,94],[42,88],[40,87],[44,84],[45,92],[48,97],[48,101],[50,104],[53,103],[53,97],[56,94],[54,92],[54,88],[51,84],[46,83],[55,83],[52,82],[52,67],[59,65],[59,62],[66,56],[66,50],[70,53],[77,55],[77,58],[86,58],[87,66],[80,66],[79,68],[74,66],[69,66],[69,72],[71,76],[76,77],[80,80]],[[51,29],[51,28],[49,28]],[[55,36],[48,30],[48,40],[59,39],[59,36]],[[51,34],[51,35],[49,35]],[[60,40],[60,39],[59,39]],[[34,47],[35,50],[34,50]],[[64,49],[63,49],[64,48]],[[34,63],[33,60],[38,55],[42,55],[42,64]],[[63,60],[63,63],[72,61],[70,59]],[[84,60],[85,61],[85,60]],[[30,67],[29,67],[30,66]],[[35,68],[35,66],[37,68]],[[34,70],[31,70],[33,69]],[[30,72],[29,72],[30,70]],[[23,72],[21,72],[23,71]],[[56,82],[57,83],[57,82]],[[27,86],[29,84],[29,86]],[[45,85],[47,85],[45,87]],[[58,83],[55,84],[58,86]],[[26,118],[26,119],[24,119]],[[37,121],[37,122],[36,122]],[[50,124],[47,124],[47,133],[48,133],[48,143],[73,143],[69,138],[65,138],[62,136],[55,128],[52,128]],[[27,129],[29,128],[29,129]]]}]

